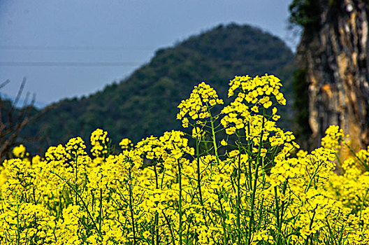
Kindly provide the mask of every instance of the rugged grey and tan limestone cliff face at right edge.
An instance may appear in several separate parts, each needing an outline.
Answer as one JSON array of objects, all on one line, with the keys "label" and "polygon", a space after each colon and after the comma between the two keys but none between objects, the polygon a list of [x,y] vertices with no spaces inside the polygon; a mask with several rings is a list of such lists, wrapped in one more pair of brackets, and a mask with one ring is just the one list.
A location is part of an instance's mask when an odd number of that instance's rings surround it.
[{"label": "rugged grey and tan limestone cliff face at right edge", "polygon": [[369,145],[368,0],[319,1],[316,29],[305,29],[296,61],[306,69],[312,145],[339,125],[352,146]]}]

